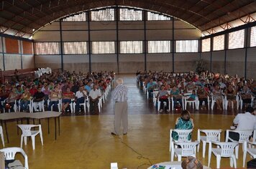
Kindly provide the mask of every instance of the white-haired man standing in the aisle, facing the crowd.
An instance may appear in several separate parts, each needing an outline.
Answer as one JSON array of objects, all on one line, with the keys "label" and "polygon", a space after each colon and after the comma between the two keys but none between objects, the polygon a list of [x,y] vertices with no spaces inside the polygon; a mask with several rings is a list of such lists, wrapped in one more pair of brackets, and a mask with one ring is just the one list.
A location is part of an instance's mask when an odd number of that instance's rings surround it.
[{"label": "white-haired man standing in the aisle, facing the crowd", "polygon": [[127,135],[128,131],[128,104],[127,104],[127,92],[128,89],[124,86],[122,78],[116,79],[117,86],[114,90],[114,132],[111,135],[121,134],[121,122],[123,125],[123,134]]}]

